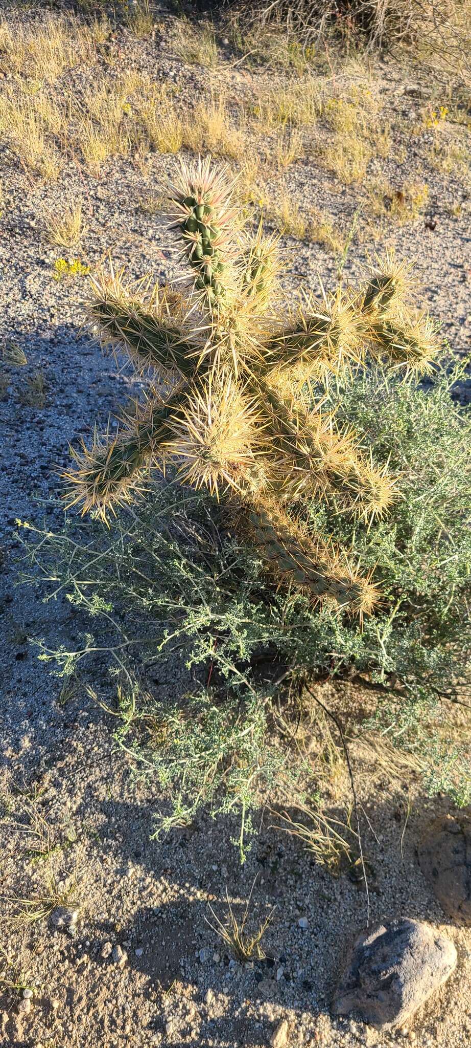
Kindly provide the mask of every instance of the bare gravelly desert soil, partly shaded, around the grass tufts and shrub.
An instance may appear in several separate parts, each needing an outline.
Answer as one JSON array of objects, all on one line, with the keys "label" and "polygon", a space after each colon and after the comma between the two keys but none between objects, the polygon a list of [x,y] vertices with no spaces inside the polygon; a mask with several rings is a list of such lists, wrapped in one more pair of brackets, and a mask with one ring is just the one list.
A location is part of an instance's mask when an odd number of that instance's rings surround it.
[{"label": "bare gravelly desert soil, partly shaded, around the grass tufts and shrub", "polygon": [[[166,56],[158,38],[141,42],[122,34],[119,49],[125,63],[140,63],[156,77],[188,85],[196,75],[195,67]],[[250,90],[250,71],[228,75],[234,91]],[[413,121],[422,95],[404,93],[407,74],[384,66],[377,75],[390,112]],[[78,909],[74,935],[50,918],[29,926],[3,924],[0,1044],[255,1048],[268,1045],[286,1018],[292,1046],[390,1046],[409,1039],[424,1048],[457,1048],[471,1041],[471,934],[444,919],[416,856],[424,826],[447,810],[446,799],[428,801],[413,786],[404,830],[408,784],[398,781],[391,791],[380,772],[372,783],[366,758],[358,758],[375,831],[365,835],[372,920],[404,915],[431,922],[453,939],[458,965],[408,1030],[378,1033],[354,1021],[333,1021],[329,1000],[345,948],[364,926],[364,891],[345,876],[332,878],[298,843],[270,828],[263,807],[243,867],[229,844],[236,832],[229,821],[201,816],[164,840],[151,839],[162,804],[157,784],[135,780],[131,760],[113,745],[111,716],[83,696],[60,701],[62,681],[38,661],[28,640],[47,636],[51,647],[68,643],[82,623],[67,602],[46,605],[40,592],[17,585],[15,520],[61,525],[61,512],[47,499],[58,490],[54,470],[69,462],[68,442],[76,443],[96,417],[106,419],[126,394],[136,392],[126,369],[116,374],[114,363],[80,333],[86,282],[52,280],[53,262],[64,252],[45,243],[44,211],[63,201],[65,190],[81,193],[88,225],[81,255],[92,269],[110,250],[114,263],[126,264],[133,276],[152,270],[156,278],[173,277],[177,260],[164,222],[143,214],[138,203],[159,192],[174,166],[174,157],[152,154],[144,173],[131,160],[116,160],[93,179],[70,162],[59,183],[41,184],[0,147],[0,345],[13,342],[27,358],[22,368],[3,366],[0,402],[2,909],[10,918],[20,908],[16,898],[44,894],[48,860],[35,858],[31,849],[47,839],[59,891],[71,889]],[[408,177],[420,167],[423,177],[424,159],[412,140],[403,167]],[[398,171],[387,174],[394,178]],[[358,188],[337,183],[309,154],[284,177],[293,192],[349,225]],[[470,330],[469,187],[431,169],[427,182],[424,214],[401,227],[391,224],[380,240],[417,259],[424,302],[442,321],[453,351],[463,353]],[[456,200],[461,212],[454,217],[449,205]],[[430,218],[433,231],[426,224]],[[365,225],[349,256],[347,275],[356,277],[366,252],[379,246]],[[318,271],[333,284],[332,255],[291,238],[286,247],[287,286],[299,277],[315,285]],[[39,371],[45,385],[41,407],[31,403],[28,385]],[[178,689],[179,672],[169,687]],[[329,685],[324,692],[341,713],[347,694],[334,696]],[[264,939],[267,959],[246,966],[230,959],[206,918],[209,902],[225,914],[226,889],[236,902],[247,899],[255,876],[254,920],[273,904],[276,910]],[[106,943],[122,947],[122,965],[113,955],[102,956]],[[23,986],[32,997],[29,1010],[18,1014]]]}]

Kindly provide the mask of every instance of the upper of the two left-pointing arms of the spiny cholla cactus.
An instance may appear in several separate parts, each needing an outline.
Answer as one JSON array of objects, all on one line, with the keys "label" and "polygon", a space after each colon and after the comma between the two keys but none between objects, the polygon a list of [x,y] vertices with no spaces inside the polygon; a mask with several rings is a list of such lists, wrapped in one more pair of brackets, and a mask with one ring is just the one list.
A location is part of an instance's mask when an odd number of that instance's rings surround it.
[{"label": "upper of the two left-pointing arms of the spiny cholla cactus", "polygon": [[181,329],[166,322],[152,307],[122,293],[113,298],[104,289],[90,310],[104,344],[126,349],[139,368],[154,368],[162,378],[173,372],[188,377],[198,352]]}]

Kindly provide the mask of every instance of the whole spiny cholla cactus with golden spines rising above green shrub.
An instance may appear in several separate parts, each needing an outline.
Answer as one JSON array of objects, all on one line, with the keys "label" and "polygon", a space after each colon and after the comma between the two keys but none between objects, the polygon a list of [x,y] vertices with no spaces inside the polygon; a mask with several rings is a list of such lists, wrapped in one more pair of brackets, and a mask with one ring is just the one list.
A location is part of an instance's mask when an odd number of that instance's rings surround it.
[{"label": "whole spiny cholla cactus with golden spines rising above green shrub", "polygon": [[[428,318],[409,314],[408,267],[391,255],[362,290],[339,289],[282,305],[276,238],[238,227],[233,187],[210,158],[182,165],[171,187],[172,228],[193,275],[181,290],[131,289],[122,274],[92,281],[91,321],[104,345],[153,372],[147,400],[117,436],[74,453],[69,502],[84,512],[132,501],[156,467],[174,462],[233,509],[237,527],[273,575],[352,613],[369,613],[377,589],[345,551],[320,543],[302,515],[308,497],[369,521],[395,497],[395,480],[339,431],[309,379],[328,381],[366,352],[425,371],[436,351]],[[306,391],[310,391],[311,400]]]}]

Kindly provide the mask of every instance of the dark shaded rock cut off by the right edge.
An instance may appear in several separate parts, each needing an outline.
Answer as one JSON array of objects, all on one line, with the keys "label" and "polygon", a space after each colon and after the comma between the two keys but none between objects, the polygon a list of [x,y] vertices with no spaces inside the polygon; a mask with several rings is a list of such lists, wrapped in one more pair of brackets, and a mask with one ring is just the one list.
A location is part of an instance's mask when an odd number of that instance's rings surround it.
[{"label": "dark shaded rock cut off by the right edge", "polygon": [[438,818],[419,845],[419,863],[447,917],[471,925],[471,818]]}]

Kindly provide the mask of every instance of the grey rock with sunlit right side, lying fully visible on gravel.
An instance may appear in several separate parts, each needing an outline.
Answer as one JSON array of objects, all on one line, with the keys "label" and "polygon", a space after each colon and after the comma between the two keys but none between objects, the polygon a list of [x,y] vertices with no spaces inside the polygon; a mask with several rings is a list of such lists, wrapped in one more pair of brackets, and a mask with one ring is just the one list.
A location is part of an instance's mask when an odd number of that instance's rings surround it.
[{"label": "grey rock with sunlit right side, lying fully visible on gravel", "polygon": [[333,1001],[377,1029],[401,1026],[451,975],[456,951],[446,936],[402,918],[362,932]]}]

